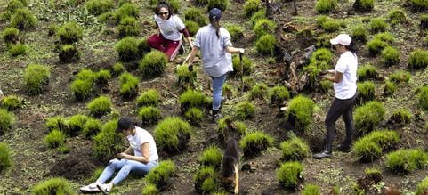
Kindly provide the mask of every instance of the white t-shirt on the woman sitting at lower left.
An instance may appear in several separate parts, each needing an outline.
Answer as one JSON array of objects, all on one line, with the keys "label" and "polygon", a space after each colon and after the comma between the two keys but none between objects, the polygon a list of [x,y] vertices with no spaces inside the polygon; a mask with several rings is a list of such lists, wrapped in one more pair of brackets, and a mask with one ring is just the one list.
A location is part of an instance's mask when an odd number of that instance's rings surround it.
[{"label": "white t-shirt on the woman sitting at lower left", "polygon": [[157,156],[156,142],[148,131],[135,126],[135,134],[130,134],[126,136],[126,138],[129,141],[129,145],[133,149],[135,157],[142,157],[141,145],[143,143],[149,142],[149,161],[157,160],[159,158]]}]

